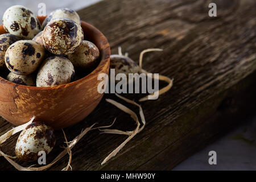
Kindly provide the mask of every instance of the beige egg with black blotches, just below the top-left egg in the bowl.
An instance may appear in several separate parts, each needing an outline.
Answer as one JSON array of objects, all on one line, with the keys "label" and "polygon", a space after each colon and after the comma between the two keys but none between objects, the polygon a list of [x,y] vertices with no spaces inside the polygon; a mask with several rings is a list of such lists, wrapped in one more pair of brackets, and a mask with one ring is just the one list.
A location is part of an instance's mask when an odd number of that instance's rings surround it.
[{"label": "beige egg with black blotches, just below the top-left egg in the bowl", "polygon": [[6,51],[6,67],[17,75],[30,75],[44,59],[44,48],[33,40],[19,40]]}]

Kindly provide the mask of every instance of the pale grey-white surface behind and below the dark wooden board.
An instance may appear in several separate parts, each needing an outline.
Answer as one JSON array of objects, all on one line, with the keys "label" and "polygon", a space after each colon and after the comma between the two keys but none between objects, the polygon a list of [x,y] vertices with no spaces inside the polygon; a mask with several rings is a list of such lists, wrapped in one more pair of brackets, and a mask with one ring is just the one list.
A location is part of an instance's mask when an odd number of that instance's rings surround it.
[{"label": "pale grey-white surface behind and below the dark wooden board", "polygon": [[[49,14],[61,7],[79,10],[98,1],[101,0],[1,0],[0,18],[13,5],[23,5],[38,14],[38,4],[43,2],[46,3]],[[256,170],[256,117],[247,118],[245,121],[244,125],[197,152],[174,170]],[[217,152],[217,165],[210,166],[208,163],[208,152],[211,150]]]}]

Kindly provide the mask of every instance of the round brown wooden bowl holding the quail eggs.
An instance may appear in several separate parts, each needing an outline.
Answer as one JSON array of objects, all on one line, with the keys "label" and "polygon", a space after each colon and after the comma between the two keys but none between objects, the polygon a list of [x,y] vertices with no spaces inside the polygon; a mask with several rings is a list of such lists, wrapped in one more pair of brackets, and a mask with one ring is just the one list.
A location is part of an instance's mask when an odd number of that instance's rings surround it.
[{"label": "round brown wooden bowl holding the quail eggs", "polygon": [[[40,23],[46,16],[38,16]],[[55,129],[80,122],[89,115],[103,94],[98,93],[98,74],[109,73],[110,47],[105,36],[92,25],[81,22],[85,39],[96,44],[101,60],[89,75],[69,84],[35,87],[18,85],[0,77],[0,115],[13,125],[22,125],[33,116]],[[3,25],[0,34],[6,33]]]}]

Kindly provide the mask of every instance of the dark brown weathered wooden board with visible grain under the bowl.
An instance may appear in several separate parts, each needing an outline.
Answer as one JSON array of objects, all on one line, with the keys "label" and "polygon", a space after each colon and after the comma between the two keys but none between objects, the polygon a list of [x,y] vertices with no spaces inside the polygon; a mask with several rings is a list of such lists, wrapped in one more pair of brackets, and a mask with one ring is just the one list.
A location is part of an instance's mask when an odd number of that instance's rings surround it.
[{"label": "dark brown weathered wooden board with visible grain under the bowl", "polygon": [[[208,16],[210,2],[217,4],[217,17]],[[256,16],[255,1],[102,1],[79,11],[81,19],[93,24],[108,38],[112,53],[123,52],[138,61],[146,48],[163,48],[148,53],[144,69],[174,78],[174,87],[156,101],[142,103],[146,127],[117,156],[104,166],[102,160],[125,136],[99,135],[90,131],[73,148],[73,170],[171,169],[212,142],[226,130],[255,113]],[[160,86],[164,86],[160,83]],[[142,95],[126,94],[138,101]],[[120,101],[113,94],[104,98]],[[121,101],[122,102],[122,101]],[[124,102],[122,102],[125,104]],[[137,107],[128,105],[137,111]],[[65,129],[68,139],[97,122],[114,129],[132,130],[127,114],[100,102],[89,117]],[[11,128],[0,122],[0,133]],[[59,139],[48,160],[63,146]],[[2,146],[13,154],[16,138]],[[68,156],[51,169],[62,169]],[[0,169],[13,169],[0,158]],[[22,163],[29,165],[30,163]]]}]

